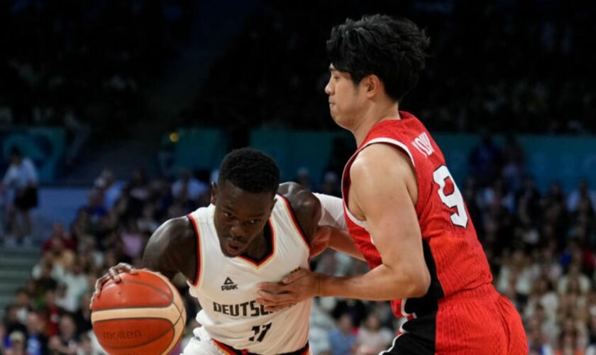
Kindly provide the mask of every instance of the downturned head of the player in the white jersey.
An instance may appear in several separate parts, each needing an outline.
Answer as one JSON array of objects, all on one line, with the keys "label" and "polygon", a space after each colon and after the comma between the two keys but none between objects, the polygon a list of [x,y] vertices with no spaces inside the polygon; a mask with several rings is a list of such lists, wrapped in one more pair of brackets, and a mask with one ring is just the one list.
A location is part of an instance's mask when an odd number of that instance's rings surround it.
[{"label": "downturned head of the player in the white jersey", "polygon": [[223,158],[217,185],[211,192],[223,254],[238,256],[261,235],[279,185],[280,168],[265,153],[242,148]]}]

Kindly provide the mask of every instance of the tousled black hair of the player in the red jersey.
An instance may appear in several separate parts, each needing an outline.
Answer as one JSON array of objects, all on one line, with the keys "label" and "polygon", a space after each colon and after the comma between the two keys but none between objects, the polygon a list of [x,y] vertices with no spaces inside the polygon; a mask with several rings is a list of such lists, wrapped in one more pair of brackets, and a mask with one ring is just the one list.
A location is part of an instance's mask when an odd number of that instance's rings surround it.
[{"label": "tousled black hair of the player in the red jersey", "polygon": [[327,56],[336,70],[350,73],[354,84],[377,75],[387,95],[399,102],[418,82],[429,43],[412,21],[377,14],[333,27]]}]

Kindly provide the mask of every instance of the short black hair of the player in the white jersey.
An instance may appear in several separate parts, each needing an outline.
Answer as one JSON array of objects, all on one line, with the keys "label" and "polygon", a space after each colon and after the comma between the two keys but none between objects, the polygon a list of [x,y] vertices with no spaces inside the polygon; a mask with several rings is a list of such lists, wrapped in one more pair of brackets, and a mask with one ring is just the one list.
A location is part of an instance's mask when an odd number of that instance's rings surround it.
[{"label": "short black hair of the player in the white jersey", "polygon": [[221,162],[218,184],[226,181],[246,192],[275,195],[280,185],[280,168],[269,155],[253,148],[240,148],[228,153]]}]

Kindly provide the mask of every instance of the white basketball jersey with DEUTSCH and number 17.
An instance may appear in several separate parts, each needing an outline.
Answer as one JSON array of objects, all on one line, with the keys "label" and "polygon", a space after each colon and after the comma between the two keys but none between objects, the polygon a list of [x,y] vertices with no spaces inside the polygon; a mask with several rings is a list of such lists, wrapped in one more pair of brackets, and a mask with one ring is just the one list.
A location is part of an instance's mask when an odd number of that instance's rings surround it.
[{"label": "white basketball jersey with DEUTSCH and number 17", "polygon": [[257,354],[297,351],[307,344],[311,300],[278,312],[255,301],[257,285],[279,282],[297,268],[309,267],[309,245],[287,200],[277,195],[269,222],[272,252],[260,263],[224,256],[214,225],[215,206],[189,214],[197,233],[199,264],[190,294],[202,310],[197,322],[218,342]]}]

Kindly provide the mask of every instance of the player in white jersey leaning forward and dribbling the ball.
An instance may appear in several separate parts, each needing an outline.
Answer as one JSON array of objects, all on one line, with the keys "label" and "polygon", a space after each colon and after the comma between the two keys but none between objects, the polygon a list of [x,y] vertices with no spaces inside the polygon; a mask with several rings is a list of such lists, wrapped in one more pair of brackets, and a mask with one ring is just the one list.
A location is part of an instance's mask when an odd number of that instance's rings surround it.
[{"label": "player in white jersey leaning forward and dribbling the ball", "polygon": [[[327,244],[363,258],[348,234],[318,227],[341,226],[342,216],[329,219],[338,215],[329,208],[341,213],[341,199],[315,197],[294,183],[280,185],[275,162],[243,148],[223,159],[211,203],[165,222],[143,255],[150,270],[170,279],[178,272],[186,276],[190,294],[202,305],[197,315],[202,327],[183,354],[309,354],[311,300],[269,312],[256,302],[257,285],[308,268],[309,257]],[[94,297],[123,271],[132,268],[118,264],[97,280]]]}]

